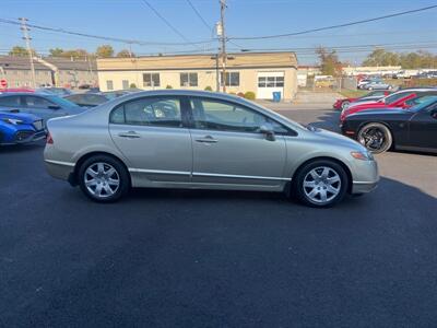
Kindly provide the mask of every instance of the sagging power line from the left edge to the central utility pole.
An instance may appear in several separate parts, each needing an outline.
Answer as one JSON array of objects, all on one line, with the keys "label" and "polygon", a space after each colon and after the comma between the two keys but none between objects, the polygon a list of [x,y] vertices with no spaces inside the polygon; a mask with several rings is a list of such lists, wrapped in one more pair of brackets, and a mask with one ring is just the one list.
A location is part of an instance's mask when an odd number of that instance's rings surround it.
[{"label": "sagging power line from the left edge to the central utility pole", "polygon": [[[0,23],[10,24],[10,25],[19,25],[19,26],[21,25],[20,22],[16,22],[13,20],[8,20],[8,19],[0,19]],[[187,43],[157,43],[157,42],[118,38],[118,37],[111,37],[111,36],[103,36],[103,35],[95,35],[95,34],[88,34],[88,33],[74,32],[74,31],[64,30],[61,27],[49,27],[49,26],[42,26],[42,25],[35,25],[35,24],[27,24],[27,26],[35,28],[35,30],[40,30],[40,31],[56,32],[56,33],[76,35],[76,36],[82,36],[82,37],[103,39],[103,40],[109,40],[109,42],[116,42],[116,43],[123,43],[123,44],[130,44],[130,45],[139,45],[139,46],[151,46],[151,45],[185,46],[185,45],[187,45]],[[189,44],[190,45],[201,45],[201,44],[209,44],[214,39],[190,42]]]}]

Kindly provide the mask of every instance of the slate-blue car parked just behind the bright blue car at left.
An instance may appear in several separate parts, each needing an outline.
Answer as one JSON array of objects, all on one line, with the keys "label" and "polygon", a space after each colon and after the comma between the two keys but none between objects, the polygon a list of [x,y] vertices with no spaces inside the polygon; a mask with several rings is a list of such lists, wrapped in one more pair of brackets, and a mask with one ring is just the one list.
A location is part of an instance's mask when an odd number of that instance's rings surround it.
[{"label": "slate-blue car parked just behind the bright blue car at left", "polygon": [[0,95],[0,112],[28,113],[47,119],[75,115],[85,109],[56,95],[38,93],[9,93]]}]

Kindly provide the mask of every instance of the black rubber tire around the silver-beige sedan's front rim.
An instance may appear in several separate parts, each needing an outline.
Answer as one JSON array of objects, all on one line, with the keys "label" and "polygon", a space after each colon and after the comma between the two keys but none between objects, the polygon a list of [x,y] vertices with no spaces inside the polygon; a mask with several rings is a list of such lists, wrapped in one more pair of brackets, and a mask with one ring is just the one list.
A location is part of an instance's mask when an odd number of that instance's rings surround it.
[{"label": "black rubber tire around the silver-beige sedan's front rim", "polygon": [[[321,167],[329,167],[330,169],[335,172],[338,177],[340,178],[339,184],[335,186],[339,190],[338,194],[334,196],[331,195],[333,197],[329,197],[330,199],[328,199],[324,202],[321,201],[321,196],[320,196],[320,201],[317,201],[314,198],[311,199],[311,197],[308,196],[308,192],[310,190],[308,190],[308,188],[305,187],[305,184],[304,184],[307,181],[306,178],[310,175],[310,173],[312,171],[315,171],[315,169],[317,171]],[[344,198],[344,196],[346,195],[347,189],[349,189],[349,184],[350,184],[350,180],[349,180],[347,173],[339,163],[331,161],[331,160],[315,160],[312,162],[305,164],[297,171],[295,177],[293,178],[292,188],[293,188],[293,195],[302,203],[309,206],[309,207],[314,207],[314,208],[329,208],[329,207],[332,207],[335,203],[340,202]],[[310,188],[312,188],[312,187],[310,187]],[[320,187],[316,186],[316,188],[321,189],[323,187],[320,188]],[[321,191],[323,191],[323,190],[321,190]],[[327,191],[324,191],[324,192],[327,192]]]}]

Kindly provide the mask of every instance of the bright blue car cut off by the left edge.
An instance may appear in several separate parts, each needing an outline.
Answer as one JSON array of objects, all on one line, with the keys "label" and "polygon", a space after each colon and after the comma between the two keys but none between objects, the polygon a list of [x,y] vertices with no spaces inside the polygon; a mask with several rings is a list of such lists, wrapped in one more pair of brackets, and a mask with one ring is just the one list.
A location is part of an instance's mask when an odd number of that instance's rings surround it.
[{"label": "bright blue car cut off by the left edge", "polygon": [[19,144],[46,138],[43,119],[32,114],[0,112],[0,144]]}]

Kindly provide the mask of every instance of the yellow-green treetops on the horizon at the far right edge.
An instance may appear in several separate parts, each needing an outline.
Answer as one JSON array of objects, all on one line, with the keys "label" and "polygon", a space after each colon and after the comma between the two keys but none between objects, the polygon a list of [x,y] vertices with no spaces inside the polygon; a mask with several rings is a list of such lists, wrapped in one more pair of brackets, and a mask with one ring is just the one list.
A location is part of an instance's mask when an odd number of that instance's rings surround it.
[{"label": "yellow-green treetops on the horizon at the far right edge", "polygon": [[363,66],[401,66],[403,69],[435,68],[437,56],[428,51],[398,54],[376,49],[363,61]]}]

